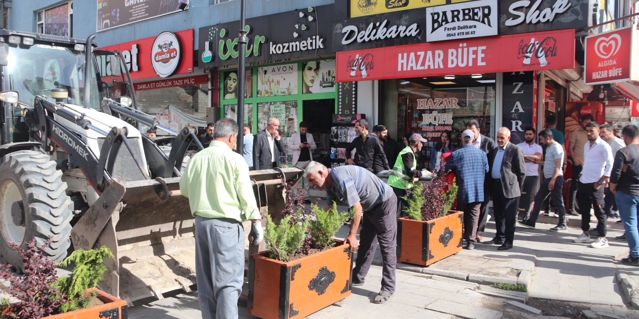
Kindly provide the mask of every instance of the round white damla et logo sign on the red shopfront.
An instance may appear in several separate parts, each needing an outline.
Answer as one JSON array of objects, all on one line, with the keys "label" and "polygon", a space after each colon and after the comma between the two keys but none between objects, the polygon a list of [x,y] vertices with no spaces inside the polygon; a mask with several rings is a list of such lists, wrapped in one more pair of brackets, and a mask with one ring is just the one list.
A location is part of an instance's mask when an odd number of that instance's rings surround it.
[{"label": "round white damla et logo sign on the red shopfront", "polygon": [[169,31],[160,33],[151,47],[151,65],[158,77],[171,77],[180,68],[182,45],[180,38]]}]

